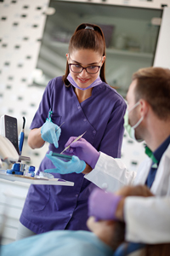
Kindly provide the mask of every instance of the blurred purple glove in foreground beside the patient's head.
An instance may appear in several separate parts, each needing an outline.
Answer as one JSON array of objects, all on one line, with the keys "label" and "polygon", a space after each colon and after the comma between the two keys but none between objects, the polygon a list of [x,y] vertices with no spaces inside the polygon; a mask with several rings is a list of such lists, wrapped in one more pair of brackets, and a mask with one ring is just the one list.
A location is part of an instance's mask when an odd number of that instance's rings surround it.
[{"label": "blurred purple glove in foreground beside the patient's head", "polygon": [[116,208],[121,195],[107,193],[102,189],[94,189],[88,198],[88,215],[94,216],[96,221],[102,220],[116,220]]}]

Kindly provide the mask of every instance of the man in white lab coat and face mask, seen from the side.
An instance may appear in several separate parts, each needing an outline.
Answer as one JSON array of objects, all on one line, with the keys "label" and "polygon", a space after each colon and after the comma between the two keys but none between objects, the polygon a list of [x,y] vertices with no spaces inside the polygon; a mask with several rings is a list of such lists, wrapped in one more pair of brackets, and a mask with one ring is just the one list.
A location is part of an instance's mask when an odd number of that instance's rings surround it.
[{"label": "man in white lab coat and face mask, seen from the side", "polygon": [[[98,152],[84,139],[71,143],[68,151],[92,167],[85,177],[102,188],[116,191],[124,185],[143,184],[156,195],[151,198],[127,197],[117,201],[113,218],[126,221],[127,241],[148,243],[170,241],[170,70],[161,67],[139,69],[127,91],[125,128],[137,141],[145,141],[146,160],[138,172],[127,171],[120,159]],[[99,191],[96,198],[100,197]],[[110,195],[110,193],[105,195]],[[106,202],[106,199],[104,200]],[[122,204],[122,207],[121,207]],[[117,207],[121,213],[116,215]],[[111,203],[101,211],[111,210]],[[92,212],[91,212],[92,213]],[[95,215],[95,213],[94,213]]]}]

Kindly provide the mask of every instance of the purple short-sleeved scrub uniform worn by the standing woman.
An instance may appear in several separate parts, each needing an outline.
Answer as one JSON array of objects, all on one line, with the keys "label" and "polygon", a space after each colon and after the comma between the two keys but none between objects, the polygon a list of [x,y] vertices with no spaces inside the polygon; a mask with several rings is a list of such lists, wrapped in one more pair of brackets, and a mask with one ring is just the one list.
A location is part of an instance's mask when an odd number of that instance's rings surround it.
[{"label": "purple short-sleeved scrub uniform worn by the standing woman", "polygon": [[[31,129],[41,127],[53,111],[52,121],[61,125],[59,148],[49,144],[48,152],[60,153],[71,137],[83,136],[94,148],[112,157],[121,157],[123,116],[126,103],[116,90],[102,82],[92,90],[92,96],[79,103],[74,87],[66,87],[62,77],[52,79],[42,96]],[[39,172],[55,166],[44,156]],[[40,234],[49,230],[88,230],[88,196],[96,187],[82,173],[54,177],[74,182],[73,187],[58,185],[31,185],[20,216],[21,224]]]}]

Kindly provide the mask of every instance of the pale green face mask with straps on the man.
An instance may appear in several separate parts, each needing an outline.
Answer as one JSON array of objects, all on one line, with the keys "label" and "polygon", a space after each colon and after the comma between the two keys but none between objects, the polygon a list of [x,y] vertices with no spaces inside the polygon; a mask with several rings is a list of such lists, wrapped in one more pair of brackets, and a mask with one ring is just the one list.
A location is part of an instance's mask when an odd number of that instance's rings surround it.
[{"label": "pale green face mask with straps on the man", "polygon": [[129,111],[127,110],[125,115],[124,115],[124,127],[129,135],[129,137],[131,137],[133,140],[136,140],[137,142],[142,142],[142,139],[136,139],[135,137],[135,129],[139,126],[139,124],[142,122],[142,120],[144,119],[144,117],[142,116],[139,121],[136,123],[136,125],[129,125],[128,124],[128,113],[130,113],[134,108],[136,108],[139,105],[139,102],[137,102],[136,104],[134,104],[133,108],[131,108]]}]

